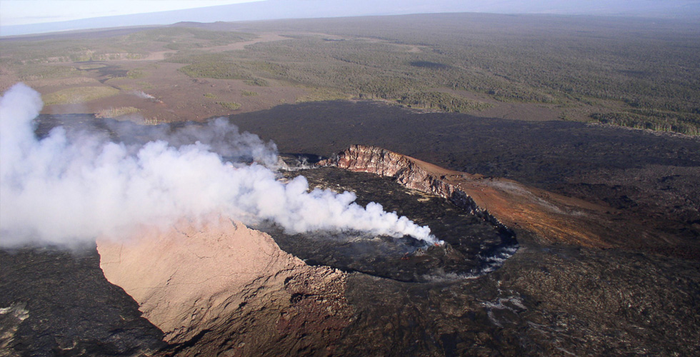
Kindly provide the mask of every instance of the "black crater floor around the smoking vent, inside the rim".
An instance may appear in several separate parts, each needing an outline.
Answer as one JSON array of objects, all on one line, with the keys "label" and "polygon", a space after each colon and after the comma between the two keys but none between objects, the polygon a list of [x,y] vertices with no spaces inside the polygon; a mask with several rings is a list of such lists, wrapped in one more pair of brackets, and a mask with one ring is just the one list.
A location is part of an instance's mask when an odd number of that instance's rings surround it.
[{"label": "black crater floor around the smoking vent, inside the rim", "polygon": [[311,265],[326,265],[398,281],[450,281],[494,271],[518,244],[513,231],[450,203],[434,193],[406,188],[393,178],[338,167],[286,171],[303,175],[312,188],[352,191],[356,203],[380,203],[421,226],[444,243],[411,236],[391,238],[352,231],[286,234],[274,225],[256,226],[270,233],[280,248]]}]

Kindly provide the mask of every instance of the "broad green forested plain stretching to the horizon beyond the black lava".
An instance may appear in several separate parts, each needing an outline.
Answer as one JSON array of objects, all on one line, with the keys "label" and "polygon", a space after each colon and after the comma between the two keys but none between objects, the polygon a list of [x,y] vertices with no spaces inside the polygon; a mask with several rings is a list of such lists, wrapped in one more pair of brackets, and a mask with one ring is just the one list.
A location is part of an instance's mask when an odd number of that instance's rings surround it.
[{"label": "broad green forested plain stretching to the horizon beyond the black lava", "polygon": [[[604,124],[700,134],[700,25],[593,16],[436,14],[162,27],[116,39],[2,42],[26,76],[65,61],[165,61],[192,78],[301,86],[319,99],[391,101],[479,115],[496,103],[596,108]],[[231,51],[206,51],[276,33]],[[56,75],[66,76],[59,73]],[[464,92],[489,101],[469,99]],[[471,97],[470,97],[471,98]]]}]

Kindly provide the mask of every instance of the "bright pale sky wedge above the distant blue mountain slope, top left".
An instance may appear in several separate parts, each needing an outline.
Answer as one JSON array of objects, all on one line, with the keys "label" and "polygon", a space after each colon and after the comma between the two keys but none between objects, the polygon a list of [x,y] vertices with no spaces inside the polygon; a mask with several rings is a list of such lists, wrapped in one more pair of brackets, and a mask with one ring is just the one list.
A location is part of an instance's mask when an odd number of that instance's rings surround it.
[{"label": "bright pale sky wedge above the distant blue mountain slope, top left", "polygon": [[260,0],[0,0],[0,24],[39,24],[252,1]]}]

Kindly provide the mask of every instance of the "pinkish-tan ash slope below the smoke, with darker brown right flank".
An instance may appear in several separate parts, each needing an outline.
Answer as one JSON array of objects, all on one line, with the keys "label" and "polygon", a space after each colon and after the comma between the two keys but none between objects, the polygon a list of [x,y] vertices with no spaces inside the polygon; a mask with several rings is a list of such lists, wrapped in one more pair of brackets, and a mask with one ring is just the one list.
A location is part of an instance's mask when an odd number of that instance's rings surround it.
[{"label": "pinkish-tan ash slope below the smoke, with darker brown right flank", "polygon": [[107,280],[165,333],[165,355],[324,353],[349,323],[344,273],[308,266],[231,218],[146,227],[97,248]]}]

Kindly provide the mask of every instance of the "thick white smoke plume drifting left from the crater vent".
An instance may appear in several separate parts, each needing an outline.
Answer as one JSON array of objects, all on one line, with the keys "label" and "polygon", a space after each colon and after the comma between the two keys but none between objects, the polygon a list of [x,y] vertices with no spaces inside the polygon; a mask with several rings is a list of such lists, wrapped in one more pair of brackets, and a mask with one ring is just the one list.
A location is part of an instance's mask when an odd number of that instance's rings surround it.
[{"label": "thick white smoke plume drifting left from the crater vent", "polygon": [[[39,140],[31,120],[41,105],[24,84],[0,101],[0,245],[70,245],[211,213],[244,223],[275,221],[289,233],[352,229],[436,241],[427,226],[377,203],[357,205],[354,193],[309,191],[304,177],[281,183],[269,169],[274,144],[240,134],[226,121],[161,133],[160,140],[139,145],[68,136],[60,127]],[[240,161],[245,158],[262,164]]]}]

